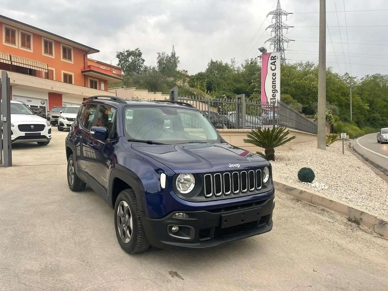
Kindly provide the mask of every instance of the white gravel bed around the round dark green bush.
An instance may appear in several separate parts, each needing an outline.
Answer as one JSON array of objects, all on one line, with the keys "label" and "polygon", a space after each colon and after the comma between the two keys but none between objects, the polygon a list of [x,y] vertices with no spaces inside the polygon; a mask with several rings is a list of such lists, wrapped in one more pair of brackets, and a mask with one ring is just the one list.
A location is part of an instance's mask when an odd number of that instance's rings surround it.
[{"label": "white gravel bed around the round dark green bush", "polygon": [[[388,183],[353,156],[346,144],[342,154],[342,141],[326,151],[317,149],[316,141],[293,145],[289,151],[275,149],[271,164],[278,182],[320,192],[388,219]],[[302,167],[314,171],[313,185],[299,181]]]}]

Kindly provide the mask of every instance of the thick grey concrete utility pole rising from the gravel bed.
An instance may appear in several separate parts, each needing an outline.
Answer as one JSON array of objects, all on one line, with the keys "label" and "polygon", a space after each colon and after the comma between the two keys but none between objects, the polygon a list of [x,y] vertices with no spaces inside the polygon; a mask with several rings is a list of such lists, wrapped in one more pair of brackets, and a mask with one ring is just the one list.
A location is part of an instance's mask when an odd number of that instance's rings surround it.
[{"label": "thick grey concrete utility pole rising from the gravel bed", "polygon": [[326,0],[319,0],[318,149],[326,151]]}]

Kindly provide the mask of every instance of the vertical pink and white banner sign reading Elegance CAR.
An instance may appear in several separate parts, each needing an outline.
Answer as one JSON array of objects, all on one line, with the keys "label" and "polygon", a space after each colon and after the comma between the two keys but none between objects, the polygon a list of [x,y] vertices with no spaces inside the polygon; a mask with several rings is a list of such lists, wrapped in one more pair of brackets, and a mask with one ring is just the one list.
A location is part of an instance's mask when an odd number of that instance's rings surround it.
[{"label": "vertical pink and white banner sign reading Elegance CAR", "polygon": [[280,101],[280,52],[262,54],[262,102]]}]

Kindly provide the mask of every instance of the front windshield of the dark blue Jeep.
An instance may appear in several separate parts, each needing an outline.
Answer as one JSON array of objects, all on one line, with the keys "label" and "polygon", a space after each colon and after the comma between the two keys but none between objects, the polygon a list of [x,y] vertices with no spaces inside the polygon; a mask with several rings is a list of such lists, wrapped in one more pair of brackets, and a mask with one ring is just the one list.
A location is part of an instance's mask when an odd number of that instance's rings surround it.
[{"label": "front windshield of the dark blue Jeep", "polygon": [[125,107],[124,131],[128,139],[163,144],[220,142],[217,131],[200,111],[173,107]]}]

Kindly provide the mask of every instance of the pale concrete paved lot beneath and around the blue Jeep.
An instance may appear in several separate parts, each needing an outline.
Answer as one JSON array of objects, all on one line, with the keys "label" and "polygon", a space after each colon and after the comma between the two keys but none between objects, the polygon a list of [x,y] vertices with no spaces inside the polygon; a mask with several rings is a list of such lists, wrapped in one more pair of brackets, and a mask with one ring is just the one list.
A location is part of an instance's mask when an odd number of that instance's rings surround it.
[{"label": "pale concrete paved lot beneath and around the blue Jeep", "polygon": [[194,251],[128,255],[113,210],[66,182],[64,137],[0,167],[0,290],[388,290],[388,241],[277,192],[274,229]]}]

